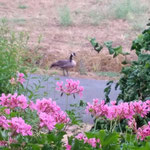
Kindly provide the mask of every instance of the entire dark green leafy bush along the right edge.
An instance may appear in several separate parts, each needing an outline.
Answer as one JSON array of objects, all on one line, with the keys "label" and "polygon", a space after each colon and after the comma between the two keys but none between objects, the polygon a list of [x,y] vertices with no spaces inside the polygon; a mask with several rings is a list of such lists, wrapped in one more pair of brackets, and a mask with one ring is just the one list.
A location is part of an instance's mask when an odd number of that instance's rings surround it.
[{"label": "entire dark green leafy bush along the right edge", "polygon": [[[116,84],[116,89],[120,89],[118,101],[144,101],[150,97],[150,54],[147,53],[150,51],[150,27],[132,42],[131,50],[135,50],[138,60],[121,71],[122,77]],[[104,91],[107,101],[110,100],[110,90],[108,85]]]}]

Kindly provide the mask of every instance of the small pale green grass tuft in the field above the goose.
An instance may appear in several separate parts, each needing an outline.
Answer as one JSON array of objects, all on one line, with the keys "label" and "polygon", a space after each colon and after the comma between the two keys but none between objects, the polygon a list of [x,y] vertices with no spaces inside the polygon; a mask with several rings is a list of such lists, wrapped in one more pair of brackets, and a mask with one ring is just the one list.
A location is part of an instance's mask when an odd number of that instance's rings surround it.
[{"label": "small pale green grass tuft in the field above the goose", "polygon": [[72,24],[71,12],[68,6],[62,6],[59,8],[59,22],[63,26],[70,26]]}]

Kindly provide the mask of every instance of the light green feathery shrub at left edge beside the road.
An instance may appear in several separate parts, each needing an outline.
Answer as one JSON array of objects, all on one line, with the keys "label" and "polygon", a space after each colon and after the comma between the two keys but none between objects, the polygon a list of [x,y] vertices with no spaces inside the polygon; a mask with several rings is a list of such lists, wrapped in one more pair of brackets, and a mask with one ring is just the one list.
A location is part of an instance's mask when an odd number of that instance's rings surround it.
[{"label": "light green feathery shrub at left edge beside the road", "polygon": [[[0,94],[14,93],[28,95],[30,99],[36,98],[35,93],[42,88],[41,83],[34,84],[29,88],[28,83],[23,86],[20,83],[11,84],[10,79],[17,78],[17,72],[34,73],[36,71],[36,61],[39,59],[37,51],[41,41],[38,39],[38,45],[31,52],[28,48],[29,36],[24,32],[12,31],[5,19],[0,23]],[[31,55],[32,53],[32,55]],[[31,91],[32,88],[32,91]],[[33,94],[34,93],[34,94]]]}]

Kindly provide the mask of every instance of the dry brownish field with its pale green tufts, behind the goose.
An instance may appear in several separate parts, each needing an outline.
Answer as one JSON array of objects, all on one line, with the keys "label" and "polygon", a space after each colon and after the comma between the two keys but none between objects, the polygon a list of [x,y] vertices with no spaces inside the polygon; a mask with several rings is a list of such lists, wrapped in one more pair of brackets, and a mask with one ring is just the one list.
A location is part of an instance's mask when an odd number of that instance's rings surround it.
[{"label": "dry brownish field with its pale green tufts, behind the goose", "polygon": [[[16,31],[30,34],[30,49],[42,35],[37,64],[49,68],[53,61],[76,52],[76,72],[120,71],[119,56],[113,59],[104,49],[97,54],[88,38],[113,41],[129,51],[150,14],[149,0],[1,0],[0,19]],[[32,54],[33,57],[33,54]],[[31,58],[32,58],[31,57]],[[128,60],[136,59],[134,53]]]}]

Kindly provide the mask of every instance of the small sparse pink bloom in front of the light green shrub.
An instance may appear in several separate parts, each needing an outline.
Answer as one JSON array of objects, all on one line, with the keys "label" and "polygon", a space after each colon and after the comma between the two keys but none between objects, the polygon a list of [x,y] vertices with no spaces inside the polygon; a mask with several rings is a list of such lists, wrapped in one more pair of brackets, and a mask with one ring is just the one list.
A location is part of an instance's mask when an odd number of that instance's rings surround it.
[{"label": "small sparse pink bloom in front of the light green shrub", "polygon": [[23,74],[23,73],[20,73],[20,72],[17,73],[17,79],[15,79],[14,77],[12,77],[12,78],[10,79],[10,83],[11,83],[12,85],[17,84],[17,83],[23,84],[23,82],[25,82],[24,74]]}]

